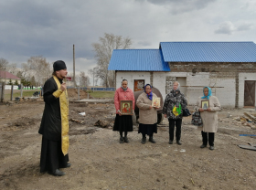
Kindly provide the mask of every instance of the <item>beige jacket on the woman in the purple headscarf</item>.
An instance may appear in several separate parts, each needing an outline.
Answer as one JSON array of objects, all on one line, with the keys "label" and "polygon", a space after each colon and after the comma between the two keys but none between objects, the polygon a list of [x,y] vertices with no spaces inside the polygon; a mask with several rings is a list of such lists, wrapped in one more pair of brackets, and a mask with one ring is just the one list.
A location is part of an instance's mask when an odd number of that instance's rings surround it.
[{"label": "beige jacket on the woman in the purple headscarf", "polygon": [[[153,97],[157,97],[153,93]],[[157,111],[155,108],[149,110],[149,107],[152,105],[152,100],[147,98],[145,92],[143,92],[136,101],[137,107],[140,109],[139,113],[139,122],[143,124],[155,124],[157,122]]]}]

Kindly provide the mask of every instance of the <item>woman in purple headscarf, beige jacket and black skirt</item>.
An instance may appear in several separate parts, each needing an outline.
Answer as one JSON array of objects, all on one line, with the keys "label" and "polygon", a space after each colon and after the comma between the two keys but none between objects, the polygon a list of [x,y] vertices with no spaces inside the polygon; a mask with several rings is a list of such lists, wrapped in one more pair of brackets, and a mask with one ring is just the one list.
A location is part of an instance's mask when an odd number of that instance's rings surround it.
[{"label": "woman in purple headscarf, beige jacket and black skirt", "polygon": [[157,98],[155,93],[152,92],[152,86],[146,84],[144,86],[144,92],[140,94],[136,101],[136,105],[139,108],[139,131],[143,134],[142,143],[146,141],[145,135],[149,135],[149,142],[155,143],[153,139],[153,133],[157,133],[157,111],[155,107],[152,107],[153,98]]}]

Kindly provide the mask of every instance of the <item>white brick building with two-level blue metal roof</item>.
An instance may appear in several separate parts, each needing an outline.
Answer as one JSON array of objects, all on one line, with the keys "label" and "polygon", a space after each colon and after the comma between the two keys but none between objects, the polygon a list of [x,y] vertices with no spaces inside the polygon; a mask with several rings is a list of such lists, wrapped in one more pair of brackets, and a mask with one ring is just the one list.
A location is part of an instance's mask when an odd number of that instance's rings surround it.
[{"label": "white brick building with two-level blue metal roof", "polygon": [[146,83],[163,98],[177,80],[189,105],[212,87],[222,107],[255,106],[256,44],[253,42],[161,42],[159,49],[114,49],[109,70],[142,90]]}]

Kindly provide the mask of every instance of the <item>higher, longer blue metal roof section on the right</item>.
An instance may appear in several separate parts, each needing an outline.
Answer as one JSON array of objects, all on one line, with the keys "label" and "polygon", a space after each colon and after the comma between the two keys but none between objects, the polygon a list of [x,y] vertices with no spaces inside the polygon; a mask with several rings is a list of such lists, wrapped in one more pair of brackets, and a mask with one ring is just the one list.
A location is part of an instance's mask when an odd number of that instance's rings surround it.
[{"label": "higher, longer blue metal roof section on the right", "polygon": [[160,42],[165,62],[256,62],[253,42]]}]

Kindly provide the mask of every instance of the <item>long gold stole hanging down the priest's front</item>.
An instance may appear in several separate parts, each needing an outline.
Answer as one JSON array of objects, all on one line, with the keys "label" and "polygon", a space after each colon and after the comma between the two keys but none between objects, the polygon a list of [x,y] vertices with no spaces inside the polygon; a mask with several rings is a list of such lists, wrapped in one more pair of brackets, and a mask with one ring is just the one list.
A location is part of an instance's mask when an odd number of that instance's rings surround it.
[{"label": "long gold stole hanging down the priest's front", "polygon": [[68,91],[62,93],[60,90],[60,82],[56,76],[53,79],[57,83],[58,90],[53,92],[55,98],[59,98],[60,116],[61,116],[61,150],[64,155],[69,151],[69,98]]}]

